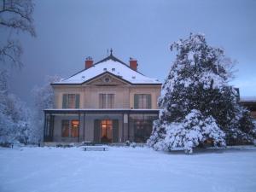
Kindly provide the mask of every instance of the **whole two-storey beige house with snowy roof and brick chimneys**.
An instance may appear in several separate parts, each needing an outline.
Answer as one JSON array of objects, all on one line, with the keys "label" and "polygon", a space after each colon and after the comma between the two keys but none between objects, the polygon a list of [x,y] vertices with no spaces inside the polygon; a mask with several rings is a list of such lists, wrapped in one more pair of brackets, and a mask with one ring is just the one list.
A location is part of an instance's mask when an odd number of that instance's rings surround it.
[{"label": "whole two-storey beige house with snowy roof and brick chimneys", "polygon": [[158,117],[161,83],[110,55],[51,84],[55,107],[45,109],[44,142],[145,142]]}]

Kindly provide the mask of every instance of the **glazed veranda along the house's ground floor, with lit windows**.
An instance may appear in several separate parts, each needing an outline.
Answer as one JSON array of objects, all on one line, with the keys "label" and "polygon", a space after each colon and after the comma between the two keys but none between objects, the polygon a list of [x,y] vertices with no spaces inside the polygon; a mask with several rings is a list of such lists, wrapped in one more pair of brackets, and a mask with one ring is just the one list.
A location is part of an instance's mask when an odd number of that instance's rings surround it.
[{"label": "glazed veranda along the house's ground floor, with lit windows", "polygon": [[145,143],[157,109],[45,109],[44,143]]}]

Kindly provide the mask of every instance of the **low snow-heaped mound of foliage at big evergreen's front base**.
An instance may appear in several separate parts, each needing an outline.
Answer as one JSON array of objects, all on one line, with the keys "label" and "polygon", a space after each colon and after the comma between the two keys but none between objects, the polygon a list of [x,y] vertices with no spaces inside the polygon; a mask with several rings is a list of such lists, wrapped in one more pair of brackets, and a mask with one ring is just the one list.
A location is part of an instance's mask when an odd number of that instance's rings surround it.
[{"label": "low snow-heaped mound of foliage at big evergreen's front base", "polygon": [[166,136],[154,144],[156,150],[175,150],[183,148],[192,153],[193,148],[212,141],[214,146],[225,146],[224,131],[216,124],[211,116],[204,118],[200,111],[193,109],[183,122],[166,124]]}]

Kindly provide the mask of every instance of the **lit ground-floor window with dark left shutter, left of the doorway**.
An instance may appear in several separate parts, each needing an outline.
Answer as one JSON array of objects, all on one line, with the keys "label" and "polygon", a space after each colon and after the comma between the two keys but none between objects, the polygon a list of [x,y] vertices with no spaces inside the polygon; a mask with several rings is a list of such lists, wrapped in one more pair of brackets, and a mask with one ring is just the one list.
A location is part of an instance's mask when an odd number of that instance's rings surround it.
[{"label": "lit ground-floor window with dark left shutter, left of the doorway", "polygon": [[62,120],[61,137],[79,137],[79,120]]}]

